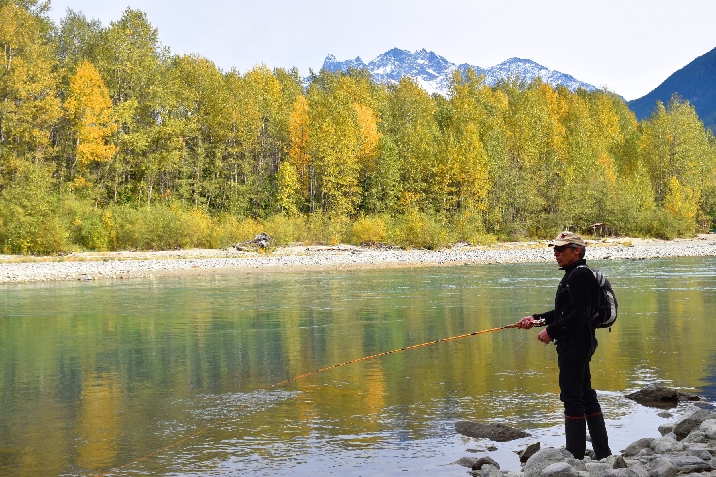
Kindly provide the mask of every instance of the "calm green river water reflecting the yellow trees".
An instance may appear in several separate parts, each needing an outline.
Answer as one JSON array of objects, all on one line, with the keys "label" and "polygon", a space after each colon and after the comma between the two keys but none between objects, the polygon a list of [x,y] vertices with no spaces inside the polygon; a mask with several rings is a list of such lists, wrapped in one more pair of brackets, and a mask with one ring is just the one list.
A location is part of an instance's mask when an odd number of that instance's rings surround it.
[{"label": "calm green river water reflecting the yellow trees", "polygon": [[[716,399],[716,259],[594,264],[619,298],[592,375],[612,450],[654,436],[624,399],[664,383]],[[0,287],[0,475],[84,476],[197,431],[316,368],[551,308],[555,265],[173,277]],[[221,426],[112,475],[465,476],[489,441],[563,444],[553,345],[523,330],[356,363],[271,390]],[[673,412],[680,412],[674,410]]]}]

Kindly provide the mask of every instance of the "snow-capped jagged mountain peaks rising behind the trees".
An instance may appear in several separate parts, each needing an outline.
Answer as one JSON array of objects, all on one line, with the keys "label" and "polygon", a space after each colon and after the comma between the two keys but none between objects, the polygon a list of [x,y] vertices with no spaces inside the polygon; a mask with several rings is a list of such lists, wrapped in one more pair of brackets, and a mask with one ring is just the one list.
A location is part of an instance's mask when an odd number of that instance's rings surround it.
[{"label": "snow-capped jagged mountain peaks rising behind the trees", "polygon": [[544,82],[555,86],[562,84],[571,91],[577,88],[584,88],[587,91],[597,89],[591,84],[581,82],[569,74],[553,71],[533,62],[531,59],[522,58],[505,59],[504,62],[496,64],[494,67],[481,68],[467,63],[458,65],[448,62],[442,56],[432,51],[425,51],[425,49],[410,53],[410,51],[394,48],[379,54],[368,64],[365,64],[360,56],[339,62],[332,54],[326,56],[326,60],[323,63],[323,68],[331,72],[337,69],[346,71],[349,68],[363,67],[372,73],[376,81],[386,84],[397,82],[405,74],[417,79],[428,93],[437,92],[443,96],[448,93],[448,77],[450,77],[450,74],[453,74],[455,69],[465,72],[468,68],[474,69],[477,74],[485,74],[485,81],[490,86],[495,86],[495,83],[500,78],[504,78],[508,74],[519,74],[528,82],[536,77],[541,77]]}]

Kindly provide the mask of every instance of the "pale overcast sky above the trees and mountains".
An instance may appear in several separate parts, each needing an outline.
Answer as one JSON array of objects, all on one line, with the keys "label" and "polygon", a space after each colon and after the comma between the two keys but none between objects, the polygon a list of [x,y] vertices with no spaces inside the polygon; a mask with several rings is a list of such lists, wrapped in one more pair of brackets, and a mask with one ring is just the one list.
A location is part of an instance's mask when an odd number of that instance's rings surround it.
[{"label": "pale overcast sky above the trees and mountains", "polygon": [[104,24],[146,11],[163,44],[222,69],[320,69],[328,53],[369,62],[393,47],[490,67],[532,59],[626,99],[716,47],[716,1],[54,0]]}]

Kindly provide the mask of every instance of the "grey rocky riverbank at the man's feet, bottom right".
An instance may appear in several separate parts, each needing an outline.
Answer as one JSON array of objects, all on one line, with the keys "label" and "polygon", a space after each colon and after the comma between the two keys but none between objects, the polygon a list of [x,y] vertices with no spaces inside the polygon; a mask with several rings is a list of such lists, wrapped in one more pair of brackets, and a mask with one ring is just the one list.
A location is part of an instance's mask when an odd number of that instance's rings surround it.
[{"label": "grey rocky riverbank at the man's feet, bottom right", "polygon": [[523,462],[519,471],[502,470],[489,456],[463,457],[454,463],[470,467],[468,473],[476,477],[716,477],[714,410],[687,405],[678,421],[659,426],[658,431],[661,437],[641,438],[599,461],[579,460],[563,448],[541,448],[539,442],[531,442],[516,451]]}]

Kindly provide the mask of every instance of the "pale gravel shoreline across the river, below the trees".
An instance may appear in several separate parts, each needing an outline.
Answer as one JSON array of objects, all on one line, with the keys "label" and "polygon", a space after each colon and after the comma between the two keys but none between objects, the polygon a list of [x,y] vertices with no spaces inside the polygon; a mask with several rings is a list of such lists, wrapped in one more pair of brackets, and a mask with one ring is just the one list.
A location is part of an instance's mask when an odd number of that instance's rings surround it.
[{"label": "pale gravel shoreline across the river, below the trees", "polygon": [[[642,260],[658,257],[716,256],[716,235],[693,239],[612,239],[588,242],[588,260]],[[631,244],[631,245],[629,245]],[[355,270],[436,265],[551,262],[546,242],[514,242],[491,247],[442,250],[311,250],[282,247],[271,254],[236,250],[165,252],[83,252],[64,257],[0,256],[0,283],[100,280],[208,273],[241,274],[313,270]]]}]

